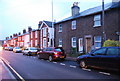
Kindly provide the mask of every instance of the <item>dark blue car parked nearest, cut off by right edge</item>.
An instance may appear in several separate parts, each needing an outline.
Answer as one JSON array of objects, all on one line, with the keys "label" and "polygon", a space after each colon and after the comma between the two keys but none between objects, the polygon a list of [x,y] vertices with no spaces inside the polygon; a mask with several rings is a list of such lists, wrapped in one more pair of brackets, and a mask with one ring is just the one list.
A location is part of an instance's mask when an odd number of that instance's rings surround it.
[{"label": "dark blue car parked nearest, cut off by right edge", "polygon": [[120,47],[102,47],[77,58],[82,68],[98,67],[108,70],[120,70]]}]

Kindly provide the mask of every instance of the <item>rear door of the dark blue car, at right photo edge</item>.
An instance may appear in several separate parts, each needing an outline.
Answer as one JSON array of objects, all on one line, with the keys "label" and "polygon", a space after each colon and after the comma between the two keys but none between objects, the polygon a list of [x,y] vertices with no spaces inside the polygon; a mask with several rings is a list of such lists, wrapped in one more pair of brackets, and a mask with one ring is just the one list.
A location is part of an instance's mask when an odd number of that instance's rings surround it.
[{"label": "rear door of the dark blue car, at right photo edge", "polygon": [[108,69],[119,69],[120,68],[120,48],[110,47],[107,49],[106,56],[101,59],[102,67]]}]

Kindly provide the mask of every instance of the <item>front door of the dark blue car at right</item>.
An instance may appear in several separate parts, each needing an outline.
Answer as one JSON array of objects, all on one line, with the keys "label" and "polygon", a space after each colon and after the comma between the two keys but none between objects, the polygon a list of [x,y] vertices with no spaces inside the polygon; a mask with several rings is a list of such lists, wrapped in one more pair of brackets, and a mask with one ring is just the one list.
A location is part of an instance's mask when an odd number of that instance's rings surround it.
[{"label": "front door of the dark blue car at right", "polygon": [[100,48],[90,54],[88,57],[87,63],[91,66],[101,66],[100,58],[102,55],[105,55],[106,48]]}]

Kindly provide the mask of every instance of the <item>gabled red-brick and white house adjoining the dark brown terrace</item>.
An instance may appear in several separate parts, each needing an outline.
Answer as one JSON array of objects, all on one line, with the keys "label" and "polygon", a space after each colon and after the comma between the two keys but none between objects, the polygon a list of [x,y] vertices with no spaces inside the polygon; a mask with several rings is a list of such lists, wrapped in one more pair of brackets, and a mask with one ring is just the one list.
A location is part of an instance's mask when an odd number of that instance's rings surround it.
[{"label": "gabled red-brick and white house adjoining the dark brown terrace", "polygon": [[39,47],[51,47],[54,46],[54,28],[52,28],[52,22],[40,21],[38,26],[38,45]]}]

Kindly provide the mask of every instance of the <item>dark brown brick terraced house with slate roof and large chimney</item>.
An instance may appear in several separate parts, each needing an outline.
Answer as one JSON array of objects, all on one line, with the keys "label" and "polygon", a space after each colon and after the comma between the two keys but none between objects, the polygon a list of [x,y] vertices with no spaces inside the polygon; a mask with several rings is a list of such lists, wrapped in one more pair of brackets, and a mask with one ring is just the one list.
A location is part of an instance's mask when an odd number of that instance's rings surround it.
[{"label": "dark brown brick terraced house with slate roof and large chimney", "polygon": [[83,53],[102,47],[105,39],[120,40],[120,2],[104,5],[104,27],[102,6],[80,12],[74,3],[71,10],[72,16],[55,23],[56,47],[63,47],[68,54],[73,48]]}]

